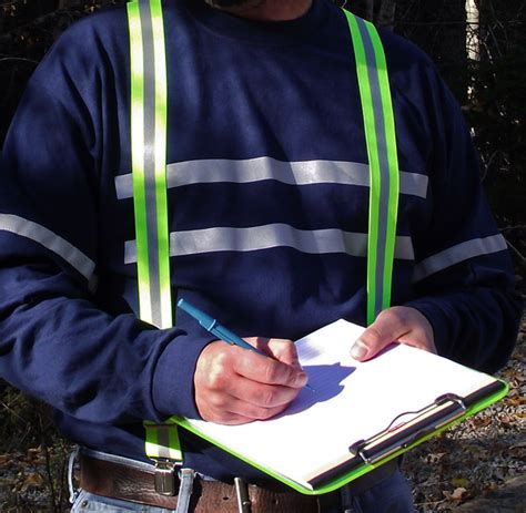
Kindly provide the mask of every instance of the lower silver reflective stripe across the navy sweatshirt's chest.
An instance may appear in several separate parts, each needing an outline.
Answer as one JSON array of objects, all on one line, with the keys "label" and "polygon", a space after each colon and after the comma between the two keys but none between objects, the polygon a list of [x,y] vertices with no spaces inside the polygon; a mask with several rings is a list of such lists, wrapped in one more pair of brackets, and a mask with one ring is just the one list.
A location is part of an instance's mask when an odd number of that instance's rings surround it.
[{"label": "lower silver reflective stripe across the navy sweatshirt's chest", "polygon": [[[256,252],[291,247],[314,255],[344,253],[364,257],[367,254],[367,234],[341,229],[303,230],[285,224],[250,228],[205,228],[170,234],[170,256],[200,255],[212,252]],[[411,237],[396,237],[395,258],[413,260]],[[136,263],[135,240],[125,243],[124,263]]]}]

